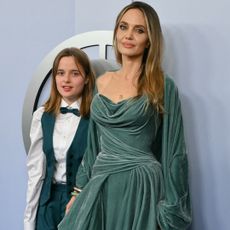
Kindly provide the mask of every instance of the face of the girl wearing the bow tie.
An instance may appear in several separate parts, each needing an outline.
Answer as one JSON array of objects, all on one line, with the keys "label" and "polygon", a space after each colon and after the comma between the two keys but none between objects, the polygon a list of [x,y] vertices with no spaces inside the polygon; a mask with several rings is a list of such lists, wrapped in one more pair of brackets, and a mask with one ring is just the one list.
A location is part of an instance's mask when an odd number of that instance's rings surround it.
[{"label": "face of the girl wearing the bow tie", "polygon": [[57,90],[69,105],[81,97],[87,83],[83,68],[78,66],[74,57],[62,57],[55,76]]}]

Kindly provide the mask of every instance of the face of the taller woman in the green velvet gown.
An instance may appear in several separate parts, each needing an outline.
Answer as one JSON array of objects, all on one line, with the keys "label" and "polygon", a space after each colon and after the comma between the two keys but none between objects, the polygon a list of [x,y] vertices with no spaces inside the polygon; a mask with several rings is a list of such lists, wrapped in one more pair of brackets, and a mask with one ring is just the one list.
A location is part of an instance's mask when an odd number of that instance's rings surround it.
[{"label": "face of the taller woman in the green velvet gown", "polygon": [[148,47],[147,25],[139,9],[128,10],[121,18],[116,31],[118,51],[124,56],[140,57]]}]

